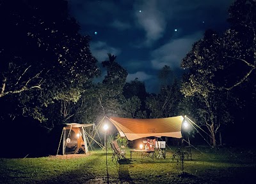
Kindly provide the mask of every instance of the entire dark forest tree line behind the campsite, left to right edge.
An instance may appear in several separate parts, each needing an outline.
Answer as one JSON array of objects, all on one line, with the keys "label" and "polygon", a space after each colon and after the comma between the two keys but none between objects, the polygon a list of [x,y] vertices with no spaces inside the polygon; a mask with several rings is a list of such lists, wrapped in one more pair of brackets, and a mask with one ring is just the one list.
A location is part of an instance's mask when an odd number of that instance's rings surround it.
[{"label": "entire dark forest tree line behind the campsite, left to right edge", "polygon": [[[256,1],[237,0],[228,13],[226,31],[205,31],[184,55],[182,78],[164,66],[161,89],[150,94],[140,79],[126,81],[127,71],[115,55],[95,59],[90,36],[79,33],[68,1],[0,1],[1,124],[29,120],[52,131],[70,122],[97,123],[104,116],[188,115],[209,133],[212,146],[225,141],[222,132],[232,124],[244,135],[253,133]],[[100,68],[107,74],[96,83]]]}]

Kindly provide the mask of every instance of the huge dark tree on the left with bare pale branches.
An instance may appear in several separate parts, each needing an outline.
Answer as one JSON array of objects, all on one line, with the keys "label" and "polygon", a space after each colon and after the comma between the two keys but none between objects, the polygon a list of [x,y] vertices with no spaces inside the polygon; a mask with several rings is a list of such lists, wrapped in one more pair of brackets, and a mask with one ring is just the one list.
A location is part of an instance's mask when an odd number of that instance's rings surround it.
[{"label": "huge dark tree on the left with bare pale branches", "polygon": [[40,122],[45,108],[76,103],[98,69],[89,36],[68,15],[67,1],[1,1],[0,100]]}]

